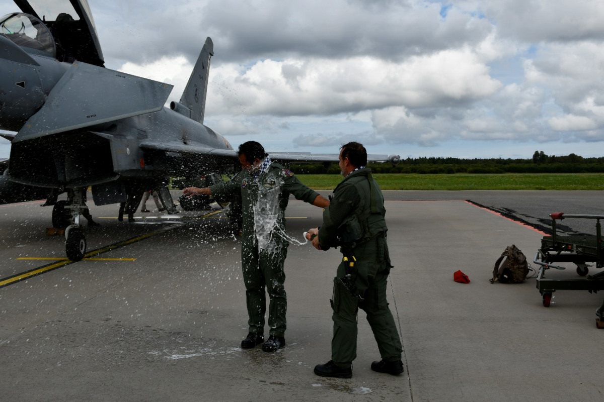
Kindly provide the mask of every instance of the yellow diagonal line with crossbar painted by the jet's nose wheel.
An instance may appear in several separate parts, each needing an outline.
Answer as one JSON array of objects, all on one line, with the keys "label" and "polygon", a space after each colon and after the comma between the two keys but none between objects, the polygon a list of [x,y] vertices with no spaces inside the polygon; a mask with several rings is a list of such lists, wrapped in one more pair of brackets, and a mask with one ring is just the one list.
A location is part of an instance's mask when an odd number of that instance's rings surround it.
[{"label": "yellow diagonal line with crossbar painted by the jet's nose wheel", "polygon": [[[203,216],[199,216],[198,218],[206,218],[208,216],[212,216],[212,215],[216,215],[217,213],[222,212],[222,210],[219,211],[214,211],[211,213],[208,213],[206,215]],[[155,234],[159,234],[162,233],[164,231],[167,230],[172,230],[173,228],[175,228],[176,226],[174,225],[170,225],[168,227],[162,228],[161,230],[156,230],[153,231],[152,233],[147,233],[147,234],[143,234],[142,236],[138,236],[138,237],[133,237],[132,239],[127,239],[124,240],[123,242],[119,242],[119,243],[114,243],[112,245],[109,245],[107,247],[104,248],[99,248],[98,250],[93,250],[90,251],[89,253],[86,253],[86,255],[84,256],[83,260],[95,260],[95,261],[121,261],[121,260],[136,260],[136,259],[123,259],[123,258],[117,258],[117,259],[101,259],[101,258],[91,258],[94,256],[98,256],[98,254],[102,254],[102,253],[106,253],[107,251],[111,251],[111,250],[115,250],[116,248],[120,248],[120,247],[124,247],[125,245],[128,245],[130,243],[134,243],[134,242],[138,242],[140,240],[146,239],[147,237],[151,237],[151,236],[155,236]],[[40,275],[40,274],[44,274],[45,272],[51,271],[53,269],[57,269],[57,268],[61,268],[65,265],[69,265],[72,264],[74,262],[77,261],[72,261],[66,258],[47,258],[47,257],[18,257],[18,260],[25,260],[25,259],[32,259],[32,260],[54,260],[57,261],[56,263],[47,265],[47,266],[42,266],[40,268],[36,268],[36,269],[32,269],[31,271],[27,271],[27,272],[22,272],[21,274],[16,274],[13,275],[12,277],[7,277],[7,278],[2,278],[0,279],[0,287],[4,287],[4,286],[8,286],[9,284],[13,284],[22,280],[25,280],[27,278],[36,276],[36,275]]]}]

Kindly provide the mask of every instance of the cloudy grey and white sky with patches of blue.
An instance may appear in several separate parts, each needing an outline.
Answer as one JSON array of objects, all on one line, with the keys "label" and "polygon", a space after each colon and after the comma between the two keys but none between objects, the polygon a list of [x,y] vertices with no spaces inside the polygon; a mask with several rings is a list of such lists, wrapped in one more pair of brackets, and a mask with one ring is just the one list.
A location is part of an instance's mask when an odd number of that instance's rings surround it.
[{"label": "cloudy grey and white sky with patches of blue", "polygon": [[210,36],[205,124],[234,146],[604,155],[600,0],[89,3],[106,67],[173,84],[170,100]]}]

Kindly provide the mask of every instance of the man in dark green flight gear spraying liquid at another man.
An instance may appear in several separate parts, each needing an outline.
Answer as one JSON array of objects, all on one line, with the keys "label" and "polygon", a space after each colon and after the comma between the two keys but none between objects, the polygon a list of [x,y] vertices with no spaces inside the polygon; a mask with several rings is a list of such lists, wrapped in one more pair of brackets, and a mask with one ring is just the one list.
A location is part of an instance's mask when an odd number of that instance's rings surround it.
[{"label": "man in dark green flight gear spraying liquid at another man", "polygon": [[342,146],[339,166],[344,180],[330,196],[323,224],[306,234],[317,250],[339,246],[344,256],[334,278],[331,300],[332,360],[315,366],[315,374],[322,377],[352,377],[359,308],[367,313],[382,356],[381,361],[371,363],[371,369],[394,375],[403,372],[402,346],[386,301],[391,265],[384,197],[365,165],[364,146],[358,142]]}]

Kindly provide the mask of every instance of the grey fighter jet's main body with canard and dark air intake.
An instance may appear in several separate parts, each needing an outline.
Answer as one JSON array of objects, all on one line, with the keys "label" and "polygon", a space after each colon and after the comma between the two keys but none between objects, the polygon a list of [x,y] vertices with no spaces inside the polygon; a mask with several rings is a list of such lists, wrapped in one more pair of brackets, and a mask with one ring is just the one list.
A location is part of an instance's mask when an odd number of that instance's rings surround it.
[{"label": "grey fighter jet's main body with canard and dark air intake", "polygon": [[[99,198],[109,203],[121,201],[124,191],[117,187],[126,182],[148,187],[233,166],[233,148],[222,136],[186,116],[188,108],[158,104],[155,88],[163,86],[167,97],[170,86],[57,60],[54,45],[42,50],[33,39],[33,27],[51,38],[40,20],[27,14],[11,18],[17,23],[2,25],[0,34],[0,128],[19,131],[11,145],[12,182],[62,190],[97,186],[93,192],[117,193]],[[33,25],[22,34],[20,21]],[[73,96],[80,101],[73,103]]]}]

